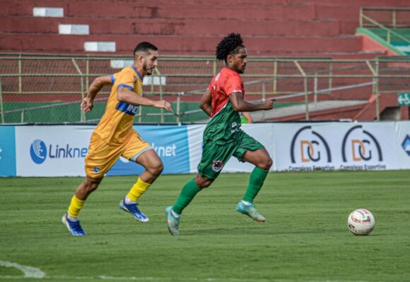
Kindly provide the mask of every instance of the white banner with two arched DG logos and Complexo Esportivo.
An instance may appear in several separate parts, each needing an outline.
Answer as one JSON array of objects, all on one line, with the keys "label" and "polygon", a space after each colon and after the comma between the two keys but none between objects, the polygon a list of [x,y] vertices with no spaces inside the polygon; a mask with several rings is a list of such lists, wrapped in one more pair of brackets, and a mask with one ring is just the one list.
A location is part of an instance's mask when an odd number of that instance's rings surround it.
[{"label": "white banner with two arched DG logos and Complexo Esportivo", "polygon": [[278,171],[397,169],[394,122],[278,123]]}]

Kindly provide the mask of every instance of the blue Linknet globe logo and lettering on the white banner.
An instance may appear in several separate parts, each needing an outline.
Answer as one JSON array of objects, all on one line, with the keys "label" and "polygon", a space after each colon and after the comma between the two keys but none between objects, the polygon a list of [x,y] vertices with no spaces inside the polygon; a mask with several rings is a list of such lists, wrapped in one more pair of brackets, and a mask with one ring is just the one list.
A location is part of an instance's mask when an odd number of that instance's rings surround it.
[{"label": "blue Linknet globe logo and lettering on the white banner", "polygon": [[87,152],[86,147],[71,147],[69,144],[63,146],[50,144],[47,149],[45,142],[40,139],[34,140],[30,146],[30,157],[35,164],[44,163],[47,157],[49,159],[83,158],[86,157]]}]

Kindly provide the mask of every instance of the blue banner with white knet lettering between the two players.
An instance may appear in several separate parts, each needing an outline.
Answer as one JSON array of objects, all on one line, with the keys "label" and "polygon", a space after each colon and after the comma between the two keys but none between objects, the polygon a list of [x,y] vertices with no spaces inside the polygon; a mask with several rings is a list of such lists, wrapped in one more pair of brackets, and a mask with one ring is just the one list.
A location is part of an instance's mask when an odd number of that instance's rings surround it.
[{"label": "blue banner with white knet lettering between the two players", "polygon": [[[134,125],[134,129],[151,144],[164,164],[163,174],[189,173],[189,144],[187,126]],[[144,167],[120,158],[108,176],[139,175]]]}]

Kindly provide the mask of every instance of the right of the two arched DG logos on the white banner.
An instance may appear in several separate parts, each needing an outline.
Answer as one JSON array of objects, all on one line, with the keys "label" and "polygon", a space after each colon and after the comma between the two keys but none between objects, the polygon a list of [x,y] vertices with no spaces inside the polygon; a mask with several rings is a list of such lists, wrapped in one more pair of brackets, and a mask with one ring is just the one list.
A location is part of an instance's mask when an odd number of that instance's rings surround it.
[{"label": "right of the two arched DG logos on the white banner", "polygon": [[382,149],[377,139],[367,130],[358,131],[357,129],[360,128],[363,128],[363,125],[353,126],[344,135],[341,145],[343,161],[347,161],[346,152],[351,152],[353,161],[370,161],[373,157],[376,157],[378,161],[383,161]]}]

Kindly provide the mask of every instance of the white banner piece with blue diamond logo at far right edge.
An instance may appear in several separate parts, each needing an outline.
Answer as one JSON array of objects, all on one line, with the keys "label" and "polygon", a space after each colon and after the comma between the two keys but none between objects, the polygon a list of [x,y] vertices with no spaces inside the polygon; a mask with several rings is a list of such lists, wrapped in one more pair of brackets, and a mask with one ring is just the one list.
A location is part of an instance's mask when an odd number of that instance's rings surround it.
[{"label": "white banner piece with blue diamond logo at far right edge", "polygon": [[399,168],[410,168],[410,123],[408,121],[396,123],[396,147]]}]

